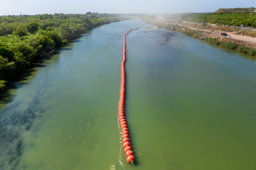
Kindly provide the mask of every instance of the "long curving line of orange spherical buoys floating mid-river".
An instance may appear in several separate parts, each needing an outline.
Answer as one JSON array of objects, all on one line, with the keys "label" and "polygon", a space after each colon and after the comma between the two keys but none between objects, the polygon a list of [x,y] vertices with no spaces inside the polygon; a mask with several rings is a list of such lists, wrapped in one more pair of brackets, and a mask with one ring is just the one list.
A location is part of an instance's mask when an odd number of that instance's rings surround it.
[{"label": "long curving line of orange spherical buoys floating mid-river", "polygon": [[[137,29],[131,29],[131,30],[137,30]],[[122,128],[122,138],[123,138],[123,144],[124,144],[124,151],[125,155],[127,157],[127,162],[130,164],[134,164],[135,162],[135,157],[132,152],[131,144],[130,144],[130,139],[129,139],[129,130],[128,126],[126,124],[125,120],[125,114],[124,114],[124,103],[125,103],[125,68],[124,68],[124,63],[126,60],[125,57],[125,37],[126,35],[131,31],[129,30],[125,35],[124,35],[124,52],[123,52],[123,62],[121,65],[122,69],[122,81],[121,81],[121,91],[120,91],[120,101],[119,101],[119,121],[120,125]]]}]

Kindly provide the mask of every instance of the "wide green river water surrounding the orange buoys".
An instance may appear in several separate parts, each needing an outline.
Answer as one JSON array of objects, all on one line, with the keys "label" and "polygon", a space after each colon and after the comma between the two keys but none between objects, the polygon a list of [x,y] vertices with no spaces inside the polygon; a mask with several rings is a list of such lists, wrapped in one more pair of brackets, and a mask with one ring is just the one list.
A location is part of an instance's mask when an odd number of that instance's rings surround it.
[{"label": "wide green river water surrounding the orange buoys", "polygon": [[[99,26],[15,82],[0,103],[0,169],[255,169],[255,60],[150,26]],[[135,166],[118,121],[134,28],[125,114]]]}]

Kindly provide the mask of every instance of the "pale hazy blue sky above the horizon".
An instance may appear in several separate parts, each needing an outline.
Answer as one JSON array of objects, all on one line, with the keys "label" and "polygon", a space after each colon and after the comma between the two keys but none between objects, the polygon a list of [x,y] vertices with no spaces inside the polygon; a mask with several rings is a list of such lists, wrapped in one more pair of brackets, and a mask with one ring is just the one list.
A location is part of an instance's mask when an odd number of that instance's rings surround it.
[{"label": "pale hazy blue sky above the horizon", "polygon": [[255,0],[0,0],[0,15],[54,13],[185,13],[256,7]]}]

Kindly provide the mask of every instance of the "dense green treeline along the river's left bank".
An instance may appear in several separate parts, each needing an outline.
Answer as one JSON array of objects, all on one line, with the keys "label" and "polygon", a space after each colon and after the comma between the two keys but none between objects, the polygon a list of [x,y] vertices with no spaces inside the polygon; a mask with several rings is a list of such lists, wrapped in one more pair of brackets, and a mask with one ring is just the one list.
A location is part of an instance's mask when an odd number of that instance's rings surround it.
[{"label": "dense green treeline along the river's left bank", "polygon": [[0,91],[43,53],[62,47],[96,26],[124,19],[128,17],[95,12],[0,16]]}]

